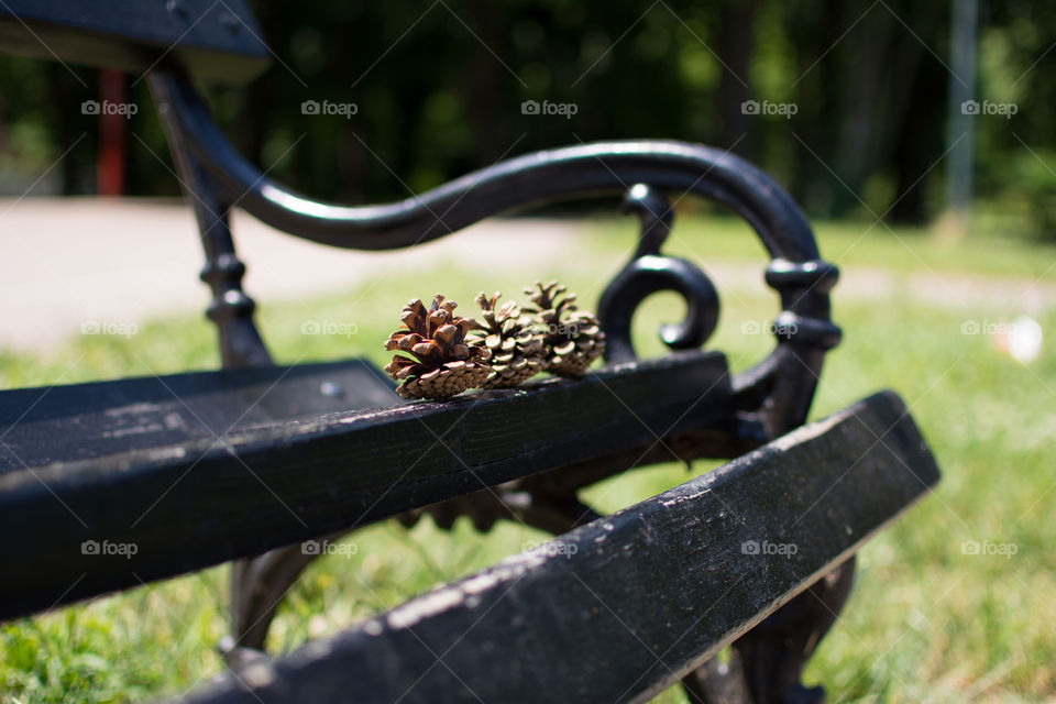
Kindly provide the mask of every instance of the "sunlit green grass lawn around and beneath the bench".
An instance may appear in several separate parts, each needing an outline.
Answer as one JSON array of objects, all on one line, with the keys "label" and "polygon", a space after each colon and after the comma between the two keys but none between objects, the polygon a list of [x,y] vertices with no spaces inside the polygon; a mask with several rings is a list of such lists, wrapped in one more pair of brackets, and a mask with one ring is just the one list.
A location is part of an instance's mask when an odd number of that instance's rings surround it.
[{"label": "sunlit green grass lawn around and beneath the bench", "polygon": [[[740,226],[692,218],[683,224],[672,250],[707,254],[705,263],[750,260],[761,270],[761,252]],[[560,276],[584,301],[595,300],[603,274],[626,257],[632,237],[627,222],[605,227],[588,238],[601,252],[590,265],[574,261],[568,271],[526,272],[526,280]],[[900,231],[914,256],[882,229],[856,242],[861,230],[823,223],[817,227],[823,253],[846,267],[892,275],[930,268],[981,279],[1053,278],[1047,267],[1056,260],[1048,249],[970,240],[949,248]],[[382,362],[381,341],[411,295],[440,289],[468,305],[476,290],[501,286],[470,271],[415,277],[414,289],[389,277],[307,305],[265,301],[261,324],[284,362],[358,354]],[[708,346],[745,369],[770,342],[743,334],[741,323],[771,318],[777,301],[761,277],[756,289],[719,293],[723,319]],[[824,683],[831,702],[1053,701],[1056,552],[1047,548],[1056,542],[1049,517],[1056,502],[1056,354],[1046,349],[1022,365],[988,338],[961,334],[968,319],[1011,320],[1022,312],[1018,309],[968,310],[912,292],[846,302],[839,287],[834,300],[845,340],[828,358],[813,417],[894,388],[923,428],[944,479],[934,495],[862,550],[850,603],[812,661],[807,681]],[[642,350],[660,352],[651,330],[680,307],[673,295],[646,304],[636,319]],[[1047,308],[1040,322],[1053,330],[1056,308]],[[302,336],[306,319],[354,322],[358,332],[350,339]],[[0,386],[209,369],[217,365],[212,348],[211,330],[197,318],[155,321],[129,341],[86,337],[41,356],[0,353]],[[698,463],[692,472],[711,466]],[[685,468],[660,465],[585,494],[614,510],[686,477]],[[450,534],[428,520],[410,530],[391,521],[360,530],[348,538],[354,554],[327,557],[305,573],[279,610],[270,646],[283,651],[332,634],[541,537],[512,524],[481,536],[464,520]],[[1012,543],[1018,551],[1011,559],[965,554],[968,540]],[[227,574],[219,566],[0,626],[0,701],[142,700],[183,692],[216,674],[222,668],[213,646],[226,632]],[[659,701],[684,697],[671,691]]]}]

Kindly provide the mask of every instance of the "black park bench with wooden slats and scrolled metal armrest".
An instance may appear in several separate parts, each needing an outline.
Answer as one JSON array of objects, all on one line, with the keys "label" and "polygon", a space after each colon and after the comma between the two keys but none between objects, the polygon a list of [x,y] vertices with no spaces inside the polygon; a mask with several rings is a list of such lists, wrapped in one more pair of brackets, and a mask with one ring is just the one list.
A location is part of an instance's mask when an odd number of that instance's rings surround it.
[{"label": "black park bench with wooden slats and scrolled metal armrest", "polygon": [[[610,704],[680,682],[695,702],[822,700],[800,676],[848,596],[855,552],[938,471],[891,392],[804,425],[840,337],[837,271],[774,182],[728,153],[638,141],[529,154],[393,205],[317,202],[242,158],[196,89],[267,65],[242,1],[84,7],[7,0],[0,45],[146,75],[200,228],[223,369],[0,393],[0,618],[234,561],[228,669],[183,701]],[[405,403],[363,360],[273,364],[228,217],[238,206],[322,244],[385,250],[600,194],[623,195],[641,226],[598,301],[605,365],[447,402]],[[696,264],[662,253],[666,194],[726,206],[770,255],[776,345],[747,372],[702,350],[718,297]],[[671,353],[639,360],[630,320],[658,290],[679,293],[686,316],[662,330]],[[437,451],[422,454],[422,437]],[[610,516],[578,498],[695,458],[730,461]],[[521,520],[556,538],[338,636],[264,652],[282,595],[316,557],[304,541],[424,515],[481,530]]]}]

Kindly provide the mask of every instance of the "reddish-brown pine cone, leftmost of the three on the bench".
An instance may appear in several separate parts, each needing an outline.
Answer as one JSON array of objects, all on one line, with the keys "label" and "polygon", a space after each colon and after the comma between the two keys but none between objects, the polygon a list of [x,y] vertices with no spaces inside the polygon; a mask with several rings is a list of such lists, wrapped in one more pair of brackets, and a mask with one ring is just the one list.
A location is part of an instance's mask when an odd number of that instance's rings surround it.
[{"label": "reddish-brown pine cone, leftmost of the three on the bench", "polygon": [[476,326],[472,318],[454,315],[458,304],[437,294],[426,307],[418,298],[404,306],[399,319],[406,330],[397,330],[385,341],[386,350],[397,350],[385,371],[399,380],[396,393],[402,398],[448,398],[480,386],[492,369],[487,349],[470,346],[465,333]]}]

